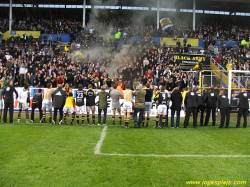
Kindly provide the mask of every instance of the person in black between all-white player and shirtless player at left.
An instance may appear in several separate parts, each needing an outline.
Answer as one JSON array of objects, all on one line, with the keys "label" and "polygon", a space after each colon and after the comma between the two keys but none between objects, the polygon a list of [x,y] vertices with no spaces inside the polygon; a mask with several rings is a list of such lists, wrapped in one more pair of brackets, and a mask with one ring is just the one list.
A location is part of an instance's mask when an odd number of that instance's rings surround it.
[{"label": "person in black between all-white player and shirtless player at left", "polygon": [[38,93],[34,94],[33,100],[32,100],[32,111],[31,111],[31,122],[32,123],[34,122],[34,111],[36,108],[39,109],[40,120],[42,119],[42,115],[43,115],[42,101],[43,101],[42,89],[38,89]]}]

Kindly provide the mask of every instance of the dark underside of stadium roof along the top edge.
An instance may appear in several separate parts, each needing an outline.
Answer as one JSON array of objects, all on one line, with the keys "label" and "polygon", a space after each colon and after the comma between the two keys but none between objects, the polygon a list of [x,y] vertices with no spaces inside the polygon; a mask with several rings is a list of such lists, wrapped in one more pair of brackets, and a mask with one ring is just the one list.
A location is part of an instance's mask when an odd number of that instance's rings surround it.
[{"label": "dark underside of stadium roof along the top edge", "polygon": [[[13,4],[60,4],[82,5],[83,0],[12,0]],[[156,7],[156,0],[87,0],[87,5],[95,2],[96,5]],[[9,0],[1,0],[0,4],[9,4]],[[193,0],[160,0],[160,7],[175,9],[192,9]],[[196,0],[197,10],[214,10],[229,12],[249,12],[250,0]]]}]

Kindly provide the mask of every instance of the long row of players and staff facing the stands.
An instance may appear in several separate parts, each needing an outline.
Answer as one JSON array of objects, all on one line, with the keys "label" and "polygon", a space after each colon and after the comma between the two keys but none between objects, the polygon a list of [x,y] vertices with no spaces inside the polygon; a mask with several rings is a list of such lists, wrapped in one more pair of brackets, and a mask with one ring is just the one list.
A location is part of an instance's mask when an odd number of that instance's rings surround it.
[{"label": "long row of players and staff facing the stands", "polygon": [[[212,114],[212,126],[216,123],[216,111],[221,114],[219,128],[228,128],[230,123],[231,105],[224,91],[217,95],[213,88],[209,92],[201,93],[197,89],[185,89],[183,92],[179,87],[174,88],[171,94],[166,91],[164,86],[158,90],[149,83],[146,86],[137,85],[136,90],[130,89],[129,85],[125,85],[125,90],[119,89],[116,84],[113,84],[110,91],[107,92],[106,86],[101,87],[101,91],[96,93],[92,85],[88,86],[86,91],[83,90],[83,85],[79,84],[76,90],[76,98],[73,97],[72,88],[68,84],[63,87],[58,84],[57,89],[52,89],[51,83],[47,84],[47,88],[42,93],[42,89],[38,89],[32,100],[31,118],[29,119],[28,106],[30,101],[30,92],[27,85],[24,86],[21,92],[17,92],[12,85],[12,81],[8,81],[4,89],[0,90],[0,96],[4,99],[4,115],[3,121],[7,122],[7,110],[9,109],[10,123],[13,123],[13,103],[14,93],[19,102],[18,121],[21,121],[22,110],[25,111],[26,122],[34,122],[34,111],[39,109],[40,123],[57,123],[57,113],[59,111],[59,124],[67,124],[67,117],[71,115],[70,125],[73,125],[76,120],[76,125],[85,125],[85,117],[87,124],[96,125],[95,120],[95,99],[99,97],[98,102],[98,125],[106,125],[108,99],[111,98],[112,104],[112,124],[115,125],[116,113],[118,113],[119,125],[122,125],[122,110],[124,113],[124,124],[129,128],[131,114],[134,120],[134,128],[148,127],[150,121],[150,113],[152,108],[152,99],[156,102],[157,115],[155,118],[154,128],[168,127],[168,111],[171,109],[171,128],[180,127],[180,111],[185,111],[184,128],[189,126],[190,116],[193,116],[193,127],[197,126],[198,114],[200,113],[200,126],[207,126],[209,123],[210,114]],[[135,97],[133,102],[132,97]],[[236,127],[240,127],[241,117],[243,116],[243,127],[247,127],[247,115],[249,110],[250,95],[246,89],[238,95],[233,95],[233,98],[239,99],[238,117]],[[120,99],[124,99],[121,107]],[[170,106],[170,102],[172,105]],[[52,107],[53,118],[52,118]],[[0,120],[2,117],[2,100],[0,110]],[[206,112],[205,122],[204,113]],[[48,119],[46,116],[48,113]],[[90,114],[92,120],[90,120]],[[85,116],[86,115],[86,116]],[[138,118],[138,119],[137,119]],[[176,122],[175,122],[176,118]],[[226,125],[224,126],[226,122]]]}]

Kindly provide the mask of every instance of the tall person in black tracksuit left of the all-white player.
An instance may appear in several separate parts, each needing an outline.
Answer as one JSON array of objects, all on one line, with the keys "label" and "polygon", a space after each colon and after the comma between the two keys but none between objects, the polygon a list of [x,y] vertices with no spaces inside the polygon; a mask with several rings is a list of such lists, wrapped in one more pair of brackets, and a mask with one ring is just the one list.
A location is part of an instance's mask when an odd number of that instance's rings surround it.
[{"label": "tall person in black tracksuit left of the all-white player", "polygon": [[15,89],[15,87],[12,85],[12,80],[8,80],[6,83],[6,86],[3,90],[3,96],[4,96],[4,114],[3,114],[3,121],[4,123],[7,122],[7,110],[9,109],[9,115],[10,115],[10,123],[13,123],[13,110],[14,110],[14,92],[16,94],[16,99],[18,98],[18,93]]}]

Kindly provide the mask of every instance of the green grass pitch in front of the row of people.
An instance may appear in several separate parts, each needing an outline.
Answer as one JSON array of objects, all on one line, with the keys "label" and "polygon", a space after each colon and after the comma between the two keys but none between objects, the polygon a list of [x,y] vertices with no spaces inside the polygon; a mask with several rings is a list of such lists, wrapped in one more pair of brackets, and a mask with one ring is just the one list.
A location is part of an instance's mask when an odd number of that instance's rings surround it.
[{"label": "green grass pitch in front of the row of people", "polygon": [[[233,128],[235,123],[229,129],[211,124],[196,129],[153,126],[153,121],[149,128],[141,129],[108,126],[101,153],[250,155],[250,128]],[[237,180],[247,181],[243,186],[250,186],[249,157],[95,155],[102,131],[103,126],[1,123],[0,186],[175,187],[189,186],[186,181],[190,180]]]}]

